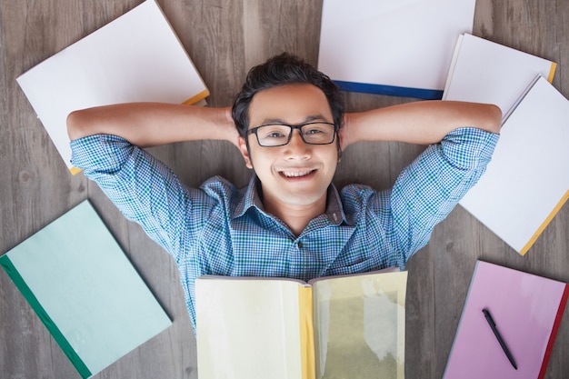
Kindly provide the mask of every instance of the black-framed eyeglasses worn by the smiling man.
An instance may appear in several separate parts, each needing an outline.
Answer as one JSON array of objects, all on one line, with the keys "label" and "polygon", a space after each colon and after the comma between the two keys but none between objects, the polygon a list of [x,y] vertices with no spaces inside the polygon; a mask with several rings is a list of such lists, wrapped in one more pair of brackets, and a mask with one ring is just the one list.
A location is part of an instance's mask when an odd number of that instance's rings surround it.
[{"label": "black-framed eyeglasses worn by the smiling man", "polygon": [[255,134],[259,145],[264,147],[284,146],[291,141],[294,129],[298,129],[304,144],[308,145],[330,145],[338,131],[332,123],[311,122],[303,125],[260,125],[249,129],[247,135]]}]

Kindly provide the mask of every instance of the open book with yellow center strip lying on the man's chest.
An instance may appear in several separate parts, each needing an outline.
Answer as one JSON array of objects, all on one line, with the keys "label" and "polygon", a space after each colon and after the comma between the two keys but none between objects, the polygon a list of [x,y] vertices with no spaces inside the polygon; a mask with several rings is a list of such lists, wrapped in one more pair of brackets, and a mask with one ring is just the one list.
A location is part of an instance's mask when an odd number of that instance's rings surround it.
[{"label": "open book with yellow center strip lying on the man's chest", "polygon": [[196,280],[201,379],[404,378],[406,272]]}]

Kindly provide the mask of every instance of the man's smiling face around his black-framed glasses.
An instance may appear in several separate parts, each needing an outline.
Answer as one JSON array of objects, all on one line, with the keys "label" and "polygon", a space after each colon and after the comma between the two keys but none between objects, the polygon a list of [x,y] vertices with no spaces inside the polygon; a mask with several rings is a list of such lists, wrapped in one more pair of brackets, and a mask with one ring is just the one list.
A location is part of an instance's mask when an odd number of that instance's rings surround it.
[{"label": "man's smiling face around his black-framed glasses", "polygon": [[[265,124],[302,125],[322,121],[333,123],[330,105],[315,85],[280,85],[265,89],[249,106],[250,129]],[[255,169],[263,188],[267,211],[318,209],[324,213],[327,188],[338,163],[337,145],[308,145],[294,130],[288,145],[263,147],[255,135],[240,138],[245,164]],[[336,136],[337,138],[337,136]]]}]

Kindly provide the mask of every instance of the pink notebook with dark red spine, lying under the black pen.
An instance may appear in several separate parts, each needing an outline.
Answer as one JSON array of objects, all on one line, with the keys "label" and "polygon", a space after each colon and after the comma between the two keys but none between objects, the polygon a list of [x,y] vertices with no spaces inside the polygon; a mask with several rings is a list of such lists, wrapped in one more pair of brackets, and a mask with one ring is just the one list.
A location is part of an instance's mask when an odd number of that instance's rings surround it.
[{"label": "pink notebook with dark red spine, lying under the black pen", "polygon": [[[568,295],[568,284],[478,261],[444,378],[543,378]],[[484,318],[484,308],[517,370]]]}]

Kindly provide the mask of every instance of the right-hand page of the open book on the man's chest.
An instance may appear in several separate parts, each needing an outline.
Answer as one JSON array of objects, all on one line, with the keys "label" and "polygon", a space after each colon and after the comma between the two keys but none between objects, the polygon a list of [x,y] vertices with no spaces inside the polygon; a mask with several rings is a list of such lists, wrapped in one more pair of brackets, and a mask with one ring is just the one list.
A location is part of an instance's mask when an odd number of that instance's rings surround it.
[{"label": "right-hand page of the open book on the man's chest", "polygon": [[314,283],[317,378],[404,378],[407,272]]}]

